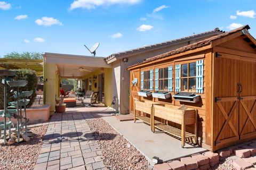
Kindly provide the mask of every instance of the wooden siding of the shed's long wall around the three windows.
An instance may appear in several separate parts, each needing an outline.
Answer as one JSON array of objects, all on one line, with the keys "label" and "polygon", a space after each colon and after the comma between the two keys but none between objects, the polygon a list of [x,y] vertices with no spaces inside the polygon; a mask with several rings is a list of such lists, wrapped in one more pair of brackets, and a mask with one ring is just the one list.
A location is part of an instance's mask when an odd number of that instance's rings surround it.
[{"label": "wooden siding of the shed's long wall around the three windows", "polygon": [[[207,74],[211,74],[211,72],[207,72],[206,71],[206,65],[209,66],[211,65],[211,60],[205,60],[205,56],[210,56],[211,57],[212,53],[211,53],[211,50],[205,50],[204,52],[201,52],[201,53],[196,53],[196,54],[193,54],[193,55],[187,55],[186,57],[182,56],[182,57],[178,57],[178,58],[175,58],[172,59],[172,60],[167,60],[167,61],[163,61],[163,62],[159,62],[159,63],[156,63],[156,64],[151,64],[151,65],[148,65],[146,67],[140,67],[139,69],[136,69],[136,70],[131,70],[131,80],[134,80],[134,78],[137,78],[138,79],[138,86],[136,87],[133,87],[131,86],[131,98],[130,98],[130,111],[133,111],[133,98],[138,98],[138,99],[146,99],[146,100],[152,100],[152,101],[155,101],[155,102],[161,102],[161,103],[165,103],[165,104],[171,104],[171,105],[175,105],[175,106],[181,106],[182,104],[185,104],[187,107],[190,107],[190,108],[194,108],[194,109],[198,109],[198,142],[199,142],[199,145],[203,145],[204,147],[206,148],[210,148],[210,145],[211,145],[211,138],[207,138],[208,141],[206,140],[206,129],[208,131],[211,131],[211,126],[207,126],[206,127],[206,99],[205,99],[205,96],[207,94],[207,91],[210,91],[209,93],[211,94],[211,89],[206,89],[206,77],[207,77]],[[154,73],[155,73],[155,69],[156,68],[162,68],[162,67],[168,67],[168,66],[175,66],[176,64],[185,64],[185,63],[191,63],[191,62],[196,62],[198,60],[204,60],[204,92],[203,94],[199,94],[201,95],[201,98],[202,100],[199,101],[199,103],[184,103],[184,102],[180,102],[180,101],[174,101],[173,98],[171,99],[159,99],[159,98],[145,98],[145,97],[140,97],[138,96],[138,91],[140,91],[140,73],[142,71],[148,71],[148,70],[151,70],[151,69],[154,69]],[[211,66],[210,66],[211,67]],[[211,77],[211,75],[209,75]],[[155,74],[154,74],[154,80],[155,80]],[[137,88],[138,87],[138,88]],[[155,81],[154,81],[154,90],[155,91]],[[173,92],[170,92],[171,95],[173,96],[175,94],[175,69],[173,69]],[[211,108],[211,106],[209,106]],[[208,117],[207,117],[208,118]],[[211,121],[211,118],[208,118],[209,120],[208,121]],[[175,126],[177,128],[181,128],[179,124],[175,124],[175,123],[172,123],[170,122],[170,124],[172,126]],[[194,126],[193,125],[188,125],[187,126],[187,131],[191,132],[191,133],[194,133]],[[209,145],[209,146],[206,146]]]}]

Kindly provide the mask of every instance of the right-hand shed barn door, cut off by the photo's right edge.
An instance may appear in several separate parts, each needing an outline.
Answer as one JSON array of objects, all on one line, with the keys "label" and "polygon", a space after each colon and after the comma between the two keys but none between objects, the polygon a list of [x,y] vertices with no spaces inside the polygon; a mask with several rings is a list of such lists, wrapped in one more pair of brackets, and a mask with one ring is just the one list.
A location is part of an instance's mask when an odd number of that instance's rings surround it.
[{"label": "right-hand shed barn door, cut off by the photo's right edge", "polygon": [[240,139],[256,137],[256,63],[240,61],[239,134]]}]

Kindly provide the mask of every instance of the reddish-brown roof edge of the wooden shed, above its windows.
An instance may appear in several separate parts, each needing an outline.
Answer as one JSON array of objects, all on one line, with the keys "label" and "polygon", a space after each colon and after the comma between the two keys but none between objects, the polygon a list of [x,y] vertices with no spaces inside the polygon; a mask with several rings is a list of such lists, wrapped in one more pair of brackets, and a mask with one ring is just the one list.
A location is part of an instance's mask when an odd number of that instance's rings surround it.
[{"label": "reddish-brown roof edge of the wooden shed, above its windows", "polygon": [[174,55],[174,54],[185,52],[187,50],[191,50],[191,49],[195,49],[195,48],[198,48],[198,47],[203,47],[203,46],[209,45],[213,40],[217,40],[217,39],[232,35],[233,33],[242,31],[243,29],[250,29],[250,27],[249,27],[249,25],[244,25],[243,27],[239,27],[235,30],[231,30],[229,32],[223,32],[220,35],[213,36],[213,37],[204,39],[202,41],[198,41],[197,43],[190,44],[190,45],[187,45],[187,46],[184,46],[184,47],[181,47],[181,48],[177,48],[177,49],[171,50],[170,52],[167,52],[167,53],[164,53],[164,54],[161,54],[161,55],[157,55],[157,56],[154,56],[154,57],[147,58],[147,59],[145,59],[145,60],[143,60],[143,61],[141,61],[137,64],[133,64],[133,65],[127,67],[127,69],[129,69],[131,67],[134,67],[134,66],[137,66],[137,65],[152,62],[152,61],[158,60],[160,58],[164,58],[164,57],[167,57],[167,56],[171,56],[171,55]]}]

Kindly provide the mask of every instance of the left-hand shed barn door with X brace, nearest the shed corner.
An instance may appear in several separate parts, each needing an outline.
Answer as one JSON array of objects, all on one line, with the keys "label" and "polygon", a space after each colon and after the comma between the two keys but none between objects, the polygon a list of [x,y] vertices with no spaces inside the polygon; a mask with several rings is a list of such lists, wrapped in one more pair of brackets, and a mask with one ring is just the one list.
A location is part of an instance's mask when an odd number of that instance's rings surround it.
[{"label": "left-hand shed barn door with X brace, nearest the shed corner", "polygon": [[239,140],[239,60],[214,58],[213,150]]}]

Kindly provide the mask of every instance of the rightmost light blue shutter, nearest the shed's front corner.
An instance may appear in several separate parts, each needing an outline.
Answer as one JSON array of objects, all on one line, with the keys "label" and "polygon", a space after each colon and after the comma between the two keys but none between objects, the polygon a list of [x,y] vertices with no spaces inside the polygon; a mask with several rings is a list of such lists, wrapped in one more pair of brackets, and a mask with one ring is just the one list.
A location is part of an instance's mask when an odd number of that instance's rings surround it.
[{"label": "rightmost light blue shutter, nearest the shed's front corner", "polygon": [[196,61],[196,92],[204,93],[204,60]]}]

